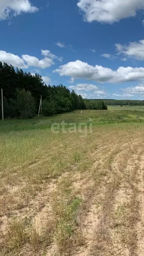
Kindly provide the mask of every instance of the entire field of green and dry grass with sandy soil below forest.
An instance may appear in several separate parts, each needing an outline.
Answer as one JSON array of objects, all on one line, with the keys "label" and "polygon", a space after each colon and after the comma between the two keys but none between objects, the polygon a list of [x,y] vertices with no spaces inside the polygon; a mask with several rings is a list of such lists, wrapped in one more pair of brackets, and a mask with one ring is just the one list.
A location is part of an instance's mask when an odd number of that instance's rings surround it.
[{"label": "entire field of green and dry grass with sandy soil below forest", "polygon": [[144,112],[110,108],[0,120],[1,256],[144,255]]}]

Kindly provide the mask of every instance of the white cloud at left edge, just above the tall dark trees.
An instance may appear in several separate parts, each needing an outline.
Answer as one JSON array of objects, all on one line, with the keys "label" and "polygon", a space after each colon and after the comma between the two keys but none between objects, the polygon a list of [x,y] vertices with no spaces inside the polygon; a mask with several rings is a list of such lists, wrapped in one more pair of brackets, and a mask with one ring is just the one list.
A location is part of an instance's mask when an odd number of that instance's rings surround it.
[{"label": "white cloud at left edge, just above the tall dark trees", "polygon": [[51,58],[45,57],[44,59],[39,60],[38,58],[27,54],[23,54],[19,57],[18,55],[14,55],[6,51],[0,51],[0,60],[18,68],[28,68],[30,66],[47,68],[54,64]]}]

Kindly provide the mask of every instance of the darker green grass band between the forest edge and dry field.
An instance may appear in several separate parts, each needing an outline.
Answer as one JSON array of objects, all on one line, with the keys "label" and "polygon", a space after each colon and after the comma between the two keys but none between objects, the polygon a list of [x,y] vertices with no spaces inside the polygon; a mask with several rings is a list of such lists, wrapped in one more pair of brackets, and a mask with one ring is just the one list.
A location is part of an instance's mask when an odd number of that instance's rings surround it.
[{"label": "darker green grass band between the forest edge and dry field", "polygon": [[62,121],[76,123],[78,126],[81,122],[89,123],[90,118],[93,119],[93,125],[117,122],[144,122],[144,108],[137,106],[109,106],[108,110],[83,110],[82,114],[77,110],[52,117],[35,117],[34,119],[27,120],[0,120],[0,134],[16,131],[50,129],[53,123],[57,122],[60,124]]}]

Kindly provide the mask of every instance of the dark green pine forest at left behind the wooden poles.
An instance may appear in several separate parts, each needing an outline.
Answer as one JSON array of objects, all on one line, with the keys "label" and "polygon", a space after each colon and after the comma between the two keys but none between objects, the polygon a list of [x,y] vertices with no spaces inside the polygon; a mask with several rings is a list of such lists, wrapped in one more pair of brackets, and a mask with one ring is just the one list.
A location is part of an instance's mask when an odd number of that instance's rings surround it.
[{"label": "dark green pine forest at left behind the wooden poles", "polygon": [[[76,109],[107,109],[102,100],[83,99],[62,84],[46,85],[38,74],[0,62],[0,89],[3,89],[4,118],[32,118],[38,114],[42,96],[42,115],[73,111]],[[0,96],[0,118],[2,118]]]}]

